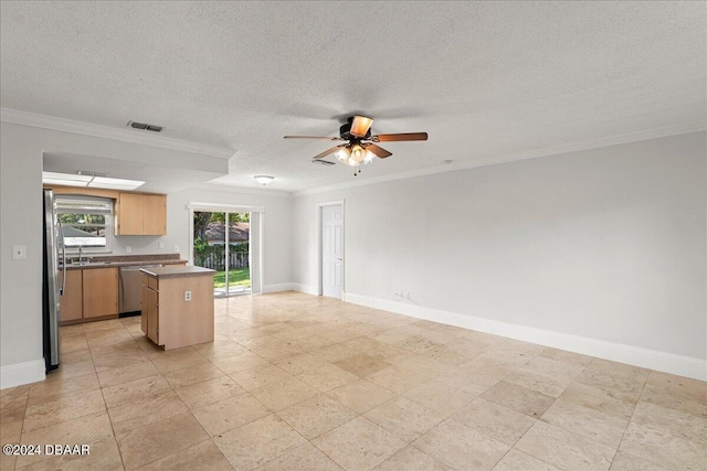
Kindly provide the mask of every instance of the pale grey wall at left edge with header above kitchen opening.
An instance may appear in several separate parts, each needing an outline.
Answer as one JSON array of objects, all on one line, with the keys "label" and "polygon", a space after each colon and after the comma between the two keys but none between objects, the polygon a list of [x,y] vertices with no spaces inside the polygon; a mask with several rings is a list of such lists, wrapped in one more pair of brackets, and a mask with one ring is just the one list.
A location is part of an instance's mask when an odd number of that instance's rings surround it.
[{"label": "pale grey wall at left edge with header above kitchen opening", "polygon": [[[212,170],[218,159],[30,126],[0,124],[0,387],[44,377],[42,360],[42,157],[44,152]],[[228,161],[223,160],[223,171]],[[169,204],[169,203],[168,203]],[[171,239],[170,239],[171,240]],[[133,242],[131,242],[133,243]],[[151,253],[134,243],[134,253]],[[12,260],[25,245],[27,259]],[[182,244],[183,246],[183,244]]]}]

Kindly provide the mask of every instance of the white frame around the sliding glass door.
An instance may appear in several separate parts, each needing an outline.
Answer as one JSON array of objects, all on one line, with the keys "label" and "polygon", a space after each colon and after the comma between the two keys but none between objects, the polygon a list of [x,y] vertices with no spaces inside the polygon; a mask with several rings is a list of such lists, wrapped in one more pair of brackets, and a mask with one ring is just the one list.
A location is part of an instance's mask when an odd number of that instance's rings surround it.
[{"label": "white frame around the sliding glass door", "polygon": [[[253,228],[251,227],[251,233],[249,235],[249,251],[250,251],[250,265],[251,265],[251,295],[262,295],[263,293],[263,279],[264,279],[264,266],[263,266],[263,220],[265,217],[265,207],[264,206],[246,206],[246,205],[236,205],[236,204],[225,204],[225,203],[203,203],[203,202],[192,202],[190,201],[187,204],[187,208],[189,208],[189,265],[194,265],[194,211],[210,211],[210,212],[219,212],[219,213],[251,213],[251,218],[253,217],[253,213],[258,213],[258,227],[256,227],[256,237],[255,244],[253,244]],[[257,254],[255,254],[255,258],[253,258],[253,247],[257,247]],[[255,264],[253,263],[255,261]],[[253,276],[253,267],[257,267],[256,278]]]}]

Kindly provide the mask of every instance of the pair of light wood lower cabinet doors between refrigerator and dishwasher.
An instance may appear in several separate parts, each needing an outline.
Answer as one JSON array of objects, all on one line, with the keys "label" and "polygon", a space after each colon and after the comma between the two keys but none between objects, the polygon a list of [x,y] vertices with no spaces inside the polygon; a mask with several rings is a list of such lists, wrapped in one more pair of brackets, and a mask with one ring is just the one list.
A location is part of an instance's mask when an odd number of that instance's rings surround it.
[{"label": "pair of light wood lower cabinet doors between refrigerator and dishwasher", "polygon": [[[60,279],[62,274],[60,274]],[[118,317],[118,269],[66,270],[66,288],[61,298],[62,324]]]}]

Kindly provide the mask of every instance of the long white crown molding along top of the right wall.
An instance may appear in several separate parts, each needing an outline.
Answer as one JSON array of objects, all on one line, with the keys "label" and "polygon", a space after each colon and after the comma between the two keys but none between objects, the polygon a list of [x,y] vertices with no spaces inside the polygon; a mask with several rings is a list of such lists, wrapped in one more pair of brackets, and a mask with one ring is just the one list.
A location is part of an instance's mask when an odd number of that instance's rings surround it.
[{"label": "long white crown molding along top of the right wall", "polygon": [[293,197],[307,196],[312,194],[327,193],[331,191],[346,190],[346,189],[351,189],[357,186],[367,186],[367,185],[372,185],[377,183],[392,182],[397,180],[407,180],[415,176],[425,176],[425,175],[433,175],[436,173],[455,172],[458,170],[473,169],[476,167],[494,165],[497,163],[515,162],[518,160],[537,159],[540,157],[558,156],[561,153],[578,152],[582,150],[598,149],[602,147],[618,146],[618,144],[631,143],[631,142],[639,142],[639,141],[650,140],[650,139],[659,139],[659,138],[665,138],[671,136],[685,135],[688,132],[704,131],[706,128],[706,125],[707,124],[701,120],[683,122],[679,125],[665,126],[662,128],[648,129],[648,130],[636,131],[636,132],[629,132],[624,135],[612,136],[609,138],[574,142],[571,144],[553,146],[553,147],[547,147],[542,149],[534,149],[534,150],[528,150],[523,152],[495,156],[487,159],[474,160],[472,162],[460,162],[460,163],[435,165],[426,169],[418,169],[418,170],[411,170],[408,172],[394,173],[392,175],[373,176],[366,180],[358,180],[355,182],[337,183],[328,186],[307,189],[307,190],[293,192],[292,196]]}]

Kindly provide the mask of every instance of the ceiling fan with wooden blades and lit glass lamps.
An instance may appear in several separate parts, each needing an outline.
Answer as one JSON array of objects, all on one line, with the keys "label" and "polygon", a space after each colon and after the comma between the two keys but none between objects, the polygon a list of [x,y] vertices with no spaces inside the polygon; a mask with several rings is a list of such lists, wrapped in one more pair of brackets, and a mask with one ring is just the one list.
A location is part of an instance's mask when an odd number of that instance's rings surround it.
[{"label": "ceiling fan with wooden blades and lit glass lamps", "polygon": [[351,116],[347,122],[339,128],[339,137],[326,136],[285,136],[285,139],[324,139],[330,141],[348,141],[315,156],[313,161],[323,159],[331,153],[347,165],[354,167],[354,175],[361,173],[360,165],[369,163],[374,157],[386,159],[392,156],[378,142],[398,141],[424,141],[428,140],[426,132],[401,132],[395,135],[371,135],[373,119],[366,116]]}]

